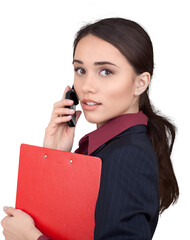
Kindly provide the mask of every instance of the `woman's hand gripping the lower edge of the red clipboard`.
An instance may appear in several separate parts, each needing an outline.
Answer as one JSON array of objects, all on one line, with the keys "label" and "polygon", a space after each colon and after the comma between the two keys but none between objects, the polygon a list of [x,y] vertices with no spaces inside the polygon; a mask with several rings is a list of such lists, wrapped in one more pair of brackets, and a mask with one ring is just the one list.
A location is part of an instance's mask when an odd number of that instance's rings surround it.
[{"label": "woman's hand gripping the lower edge of the red clipboard", "polygon": [[4,207],[3,210],[7,214],[1,221],[5,240],[37,240],[42,235],[25,212],[12,207]]}]

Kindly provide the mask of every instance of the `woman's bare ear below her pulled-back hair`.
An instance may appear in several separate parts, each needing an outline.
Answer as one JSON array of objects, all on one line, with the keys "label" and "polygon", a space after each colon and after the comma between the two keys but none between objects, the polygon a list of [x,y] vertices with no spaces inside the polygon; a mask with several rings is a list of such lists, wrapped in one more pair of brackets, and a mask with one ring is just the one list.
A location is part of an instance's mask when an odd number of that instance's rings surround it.
[{"label": "woman's bare ear below her pulled-back hair", "polygon": [[136,76],[135,96],[141,95],[150,83],[150,73],[144,72]]}]

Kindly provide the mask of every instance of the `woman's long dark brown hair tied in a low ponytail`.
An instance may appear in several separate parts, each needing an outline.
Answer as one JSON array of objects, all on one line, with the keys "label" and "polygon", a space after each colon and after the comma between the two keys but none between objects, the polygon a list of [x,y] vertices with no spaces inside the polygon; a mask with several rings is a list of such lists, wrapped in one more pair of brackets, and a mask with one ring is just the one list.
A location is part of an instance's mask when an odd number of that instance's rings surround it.
[{"label": "woman's long dark brown hair tied in a low ponytail", "polygon": [[[82,27],[76,34],[74,51],[81,38],[88,34],[97,36],[114,45],[126,57],[137,74],[149,72],[153,75],[154,57],[150,37],[136,22],[123,18],[107,18]],[[139,110],[149,118],[148,135],[152,140],[159,160],[160,213],[179,196],[179,188],[171,163],[171,152],[175,139],[175,126],[158,114],[149,100],[147,90],[139,98]]]}]

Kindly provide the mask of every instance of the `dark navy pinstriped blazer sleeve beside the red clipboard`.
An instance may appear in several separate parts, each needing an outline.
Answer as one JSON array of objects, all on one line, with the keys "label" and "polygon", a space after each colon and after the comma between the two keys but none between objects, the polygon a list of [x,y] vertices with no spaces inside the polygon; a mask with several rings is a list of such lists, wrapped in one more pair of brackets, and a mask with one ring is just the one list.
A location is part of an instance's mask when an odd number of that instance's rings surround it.
[{"label": "dark navy pinstriped blazer sleeve beside the red clipboard", "polygon": [[106,151],[94,240],[152,239],[150,226],[158,208],[158,173],[153,159],[133,145]]}]

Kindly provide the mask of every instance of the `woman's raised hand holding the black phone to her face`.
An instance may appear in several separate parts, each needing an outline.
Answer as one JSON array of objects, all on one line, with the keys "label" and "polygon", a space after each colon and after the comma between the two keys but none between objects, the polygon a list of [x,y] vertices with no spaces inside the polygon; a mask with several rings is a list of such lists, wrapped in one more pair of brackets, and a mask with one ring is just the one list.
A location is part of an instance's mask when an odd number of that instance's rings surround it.
[{"label": "woman's raised hand holding the black phone to her face", "polygon": [[[75,111],[65,108],[65,106],[73,105],[72,100],[65,99],[65,94],[69,90],[70,87],[66,87],[63,99],[54,104],[51,120],[45,131],[43,147],[67,152],[70,152],[72,149],[75,127],[69,127],[67,122],[71,120],[71,115],[73,115]],[[80,115],[81,111],[76,111],[76,122]]]}]

